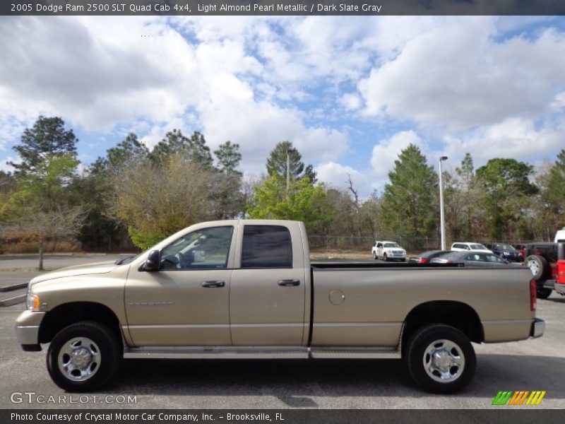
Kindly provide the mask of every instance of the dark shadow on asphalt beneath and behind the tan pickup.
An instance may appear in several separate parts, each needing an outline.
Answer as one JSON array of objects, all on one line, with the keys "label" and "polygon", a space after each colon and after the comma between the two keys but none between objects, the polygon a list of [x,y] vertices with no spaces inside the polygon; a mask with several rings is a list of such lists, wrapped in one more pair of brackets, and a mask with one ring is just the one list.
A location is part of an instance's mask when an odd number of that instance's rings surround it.
[{"label": "dark shadow on asphalt beneath and behind the tan pickup", "polygon": [[[547,390],[565,399],[565,358],[477,355],[469,386],[454,396],[494,399],[499,390]],[[292,408],[316,397],[433,396],[412,383],[401,360],[124,360],[109,393],[275,396]]]}]

